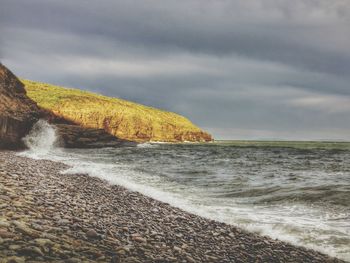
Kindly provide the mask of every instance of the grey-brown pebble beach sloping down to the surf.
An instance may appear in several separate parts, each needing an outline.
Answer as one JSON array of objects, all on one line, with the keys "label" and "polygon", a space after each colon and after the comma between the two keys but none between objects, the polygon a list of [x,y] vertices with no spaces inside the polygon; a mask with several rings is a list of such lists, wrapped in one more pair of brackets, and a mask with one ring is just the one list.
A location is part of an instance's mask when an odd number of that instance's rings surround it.
[{"label": "grey-brown pebble beach sloping down to the surf", "polygon": [[16,153],[0,151],[0,263],[344,262]]}]

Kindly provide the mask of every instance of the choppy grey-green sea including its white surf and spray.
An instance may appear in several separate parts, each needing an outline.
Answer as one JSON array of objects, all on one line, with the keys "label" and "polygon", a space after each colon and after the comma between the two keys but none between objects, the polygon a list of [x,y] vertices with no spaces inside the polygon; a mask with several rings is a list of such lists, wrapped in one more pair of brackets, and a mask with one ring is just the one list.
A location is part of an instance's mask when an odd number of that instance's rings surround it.
[{"label": "choppy grey-green sea including its white surf and spray", "polygon": [[[45,141],[45,143],[43,143]],[[103,149],[55,147],[39,122],[31,158],[61,161],[210,219],[350,261],[350,144],[217,142]]]}]

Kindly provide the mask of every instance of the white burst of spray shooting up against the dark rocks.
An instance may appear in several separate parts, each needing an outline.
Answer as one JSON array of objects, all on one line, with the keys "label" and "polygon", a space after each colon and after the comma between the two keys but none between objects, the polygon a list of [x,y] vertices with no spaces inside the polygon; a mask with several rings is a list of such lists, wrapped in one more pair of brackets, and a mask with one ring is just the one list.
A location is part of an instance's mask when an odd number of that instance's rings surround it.
[{"label": "white burst of spray shooting up against the dark rocks", "polygon": [[58,145],[58,136],[53,125],[45,120],[39,120],[23,139],[32,158],[42,158]]}]

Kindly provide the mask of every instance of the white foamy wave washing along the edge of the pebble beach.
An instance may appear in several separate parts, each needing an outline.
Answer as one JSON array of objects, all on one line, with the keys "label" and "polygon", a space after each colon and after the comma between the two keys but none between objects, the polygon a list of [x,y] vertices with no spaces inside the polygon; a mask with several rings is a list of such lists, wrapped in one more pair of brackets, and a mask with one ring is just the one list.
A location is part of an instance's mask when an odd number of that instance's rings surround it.
[{"label": "white foamy wave washing along the edge of the pebble beach", "polygon": [[[92,158],[91,158],[92,159]],[[332,256],[349,258],[344,246],[333,246],[330,240],[347,236],[339,225],[348,220],[348,213],[327,213],[319,208],[302,204],[247,206],[235,203],[231,198],[208,199],[196,188],[183,191],[176,183],[170,183],[158,175],[137,173],[132,166],[124,164],[96,163],[94,161],[66,161],[74,165],[65,174],[88,174],[137,191],[184,211],[280,239],[295,245],[326,252]],[[77,164],[79,163],[79,164]],[[305,216],[308,215],[308,216]],[[333,221],[328,225],[326,221]],[[346,239],[345,242],[348,242]],[[341,250],[345,252],[341,253]]]}]

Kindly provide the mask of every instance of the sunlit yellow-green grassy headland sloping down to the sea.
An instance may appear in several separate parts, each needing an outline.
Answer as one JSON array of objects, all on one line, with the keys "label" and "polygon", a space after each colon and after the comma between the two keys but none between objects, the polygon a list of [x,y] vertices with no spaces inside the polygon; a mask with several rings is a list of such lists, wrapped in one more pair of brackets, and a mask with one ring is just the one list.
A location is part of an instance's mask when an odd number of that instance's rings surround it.
[{"label": "sunlit yellow-green grassy headland sloping down to the sea", "polygon": [[28,96],[46,110],[84,128],[103,129],[120,139],[200,142],[212,137],[175,113],[76,89],[22,80]]}]

